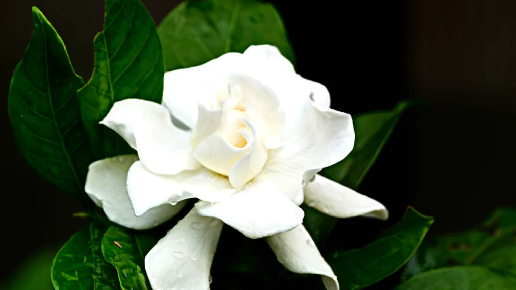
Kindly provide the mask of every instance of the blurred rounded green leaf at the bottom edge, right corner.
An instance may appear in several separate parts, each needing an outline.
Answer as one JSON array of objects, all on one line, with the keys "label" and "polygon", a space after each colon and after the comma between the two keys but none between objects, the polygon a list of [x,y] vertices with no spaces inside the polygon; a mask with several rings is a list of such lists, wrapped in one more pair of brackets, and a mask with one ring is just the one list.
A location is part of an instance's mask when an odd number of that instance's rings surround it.
[{"label": "blurred rounded green leaf at the bottom edge, right corner", "polygon": [[513,290],[516,278],[486,267],[451,267],[421,273],[396,290]]}]

